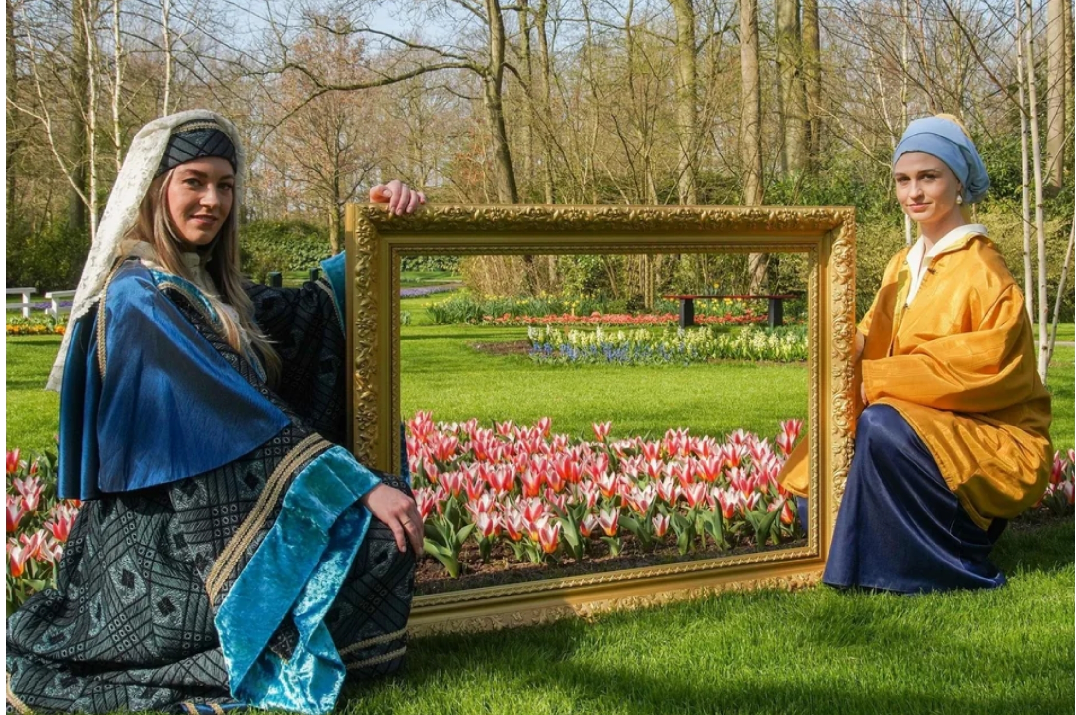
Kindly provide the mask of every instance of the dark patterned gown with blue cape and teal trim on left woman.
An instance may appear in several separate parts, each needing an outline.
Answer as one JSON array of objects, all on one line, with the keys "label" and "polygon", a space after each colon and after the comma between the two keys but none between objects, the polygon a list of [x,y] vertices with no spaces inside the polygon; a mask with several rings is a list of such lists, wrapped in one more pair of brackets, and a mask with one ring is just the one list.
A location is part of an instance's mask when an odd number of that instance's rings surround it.
[{"label": "dark patterned gown with blue cape and teal trim on left woman", "polygon": [[339,446],[339,292],[249,292],[274,389],[197,287],[138,260],[74,326],[60,489],[88,501],[58,587],[8,619],[9,711],[324,713],[399,667],[414,557],[358,500],[410,491]]}]

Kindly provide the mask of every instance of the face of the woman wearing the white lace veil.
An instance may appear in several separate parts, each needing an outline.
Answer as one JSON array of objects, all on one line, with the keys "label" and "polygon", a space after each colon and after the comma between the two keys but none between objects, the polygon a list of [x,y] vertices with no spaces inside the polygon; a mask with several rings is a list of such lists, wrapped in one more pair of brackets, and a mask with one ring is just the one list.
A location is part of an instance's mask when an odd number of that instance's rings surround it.
[{"label": "face of the woman wearing the white lace veil", "polygon": [[208,245],[231,213],[236,174],[227,159],[207,157],[172,170],[165,192],[175,234],[194,246]]}]

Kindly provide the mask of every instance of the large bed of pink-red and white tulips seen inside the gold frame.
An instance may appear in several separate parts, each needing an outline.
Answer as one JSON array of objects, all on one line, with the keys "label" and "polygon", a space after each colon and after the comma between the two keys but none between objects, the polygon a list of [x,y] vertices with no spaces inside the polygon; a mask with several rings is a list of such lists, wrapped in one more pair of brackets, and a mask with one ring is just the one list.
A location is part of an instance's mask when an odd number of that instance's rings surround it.
[{"label": "large bed of pink-red and white tulips seen inside the gold frame", "polygon": [[776,476],[802,427],[775,441],[737,430],[724,441],[670,429],[661,440],[593,441],[477,419],[407,424],[408,466],[426,550],[452,578],[479,563],[579,563],[606,556],[761,548],[798,534]]}]

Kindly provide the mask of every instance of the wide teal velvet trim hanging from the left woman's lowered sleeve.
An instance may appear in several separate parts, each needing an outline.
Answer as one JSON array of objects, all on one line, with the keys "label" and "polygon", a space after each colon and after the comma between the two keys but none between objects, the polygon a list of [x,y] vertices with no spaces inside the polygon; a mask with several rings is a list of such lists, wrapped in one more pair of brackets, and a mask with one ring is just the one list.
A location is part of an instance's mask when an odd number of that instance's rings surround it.
[{"label": "wide teal velvet trim hanging from the left woman's lowered sleeve", "polygon": [[[321,715],[336,704],[345,669],[324,618],[370,524],[358,500],[380,481],[343,447],[331,447],[295,477],[280,515],[221,604],[231,695],[255,707]],[[268,649],[292,618],[292,657]]]}]

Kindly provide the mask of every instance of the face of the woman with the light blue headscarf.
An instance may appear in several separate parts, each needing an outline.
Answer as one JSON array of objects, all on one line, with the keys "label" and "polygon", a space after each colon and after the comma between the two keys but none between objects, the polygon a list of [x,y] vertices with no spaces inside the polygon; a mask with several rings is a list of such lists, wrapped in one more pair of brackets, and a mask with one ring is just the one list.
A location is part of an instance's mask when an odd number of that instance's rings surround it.
[{"label": "face of the woman with the light blue headscarf", "polygon": [[893,181],[904,213],[924,231],[957,220],[957,226],[963,224],[957,203],[963,187],[942,159],[922,152],[902,154],[893,166]]}]

